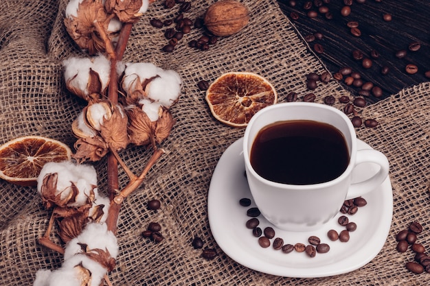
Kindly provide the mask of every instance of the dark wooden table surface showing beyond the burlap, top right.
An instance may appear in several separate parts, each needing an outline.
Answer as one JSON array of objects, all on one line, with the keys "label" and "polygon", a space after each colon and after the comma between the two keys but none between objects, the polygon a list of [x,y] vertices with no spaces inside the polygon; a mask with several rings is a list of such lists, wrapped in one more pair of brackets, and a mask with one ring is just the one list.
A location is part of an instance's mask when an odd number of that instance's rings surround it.
[{"label": "dark wooden table surface showing beyond the burlap, top right", "polygon": [[[295,2],[295,5],[292,4]],[[353,71],[361,74],[364,82],[373,82],[383,89],[381,97],[371,95],[367,97],[369,102],[376,102],[389,95],[398,93],[401,89],[430,81],[425,76],[430,71],[430,1],[429,0],[367,0],[365,3],[352,1],[349,16],[342,16],[341,9],[345,6],[343,0],[331,0],[323,4],[332,13],[332,19],[326,19],[326,14],[319,12],[315,1],[306,10],[305,0],[278,0],[284,14],[292,19],[291,13],[295,12],[299,18],[292,20],[302,36],[320,32],[324,38],[308,43],[313,49],[315,43],[324,48],[323,53],[317,56],[326,64],[326,67],[335,73],[341,67],[351,67]],[[322,1],[324,2],[324,1]],[[308,12],[317,12],[315,18],[310,18]],[[390,14],[392,21],[385,21],[384,14]],[[361,36],[353,36],[349,21],[357,21]],[[420,43],[418,51],[409,51],[409,44]],[[372,59],[372,67],[364,69],[361,60],[354,60],[352,51],[358,49],[364,56]],[[396,52],[405,49],[405,58],[397,58]],[[378,51],[378,58],[371,57],[371,51]],[[409,74],[405,71],[407,64],[416,64],[418,72]],[[381,68],[389,67],[387,75],[381,73]],[[359,95],[359,88],[348,86],[341,80],[346,88],[354,95]],[[429,91],[430,92],[430,91]]]}]

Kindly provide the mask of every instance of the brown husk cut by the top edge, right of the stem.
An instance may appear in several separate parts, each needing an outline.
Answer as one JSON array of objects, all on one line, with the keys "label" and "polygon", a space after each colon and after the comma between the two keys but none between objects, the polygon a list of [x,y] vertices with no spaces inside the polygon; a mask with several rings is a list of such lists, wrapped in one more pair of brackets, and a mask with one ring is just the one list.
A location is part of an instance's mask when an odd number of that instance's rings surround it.
[{"label": "brown husk cut by the top edge, right of the stem", "polygon": [[[146,1],[146,3],[148,3]],[[139,17],[142,16],[145,8],[144,0],[106,0],[104,7],[108,13],[115,13],[115,15],[123,23],[136,23]],[[146,5],[147,8],[147,5]]]}]

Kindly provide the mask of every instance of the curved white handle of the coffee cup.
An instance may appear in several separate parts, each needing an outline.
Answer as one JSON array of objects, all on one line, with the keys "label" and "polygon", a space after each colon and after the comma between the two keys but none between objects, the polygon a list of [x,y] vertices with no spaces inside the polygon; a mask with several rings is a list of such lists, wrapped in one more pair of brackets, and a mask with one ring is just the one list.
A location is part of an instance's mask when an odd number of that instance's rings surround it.
[{"label": "curved white handle of the coffee cup", "polygon": [[358,150],[355,166],[362,163],[376,163],[379,165],[380,169],[367,180],[351,184],[348,189],[348,194],[346,195],[346,200],[357,198],[365,193],[373,191],[379,187],[388,176],[389,162],[387,157],[381,152],[373,149]]}]

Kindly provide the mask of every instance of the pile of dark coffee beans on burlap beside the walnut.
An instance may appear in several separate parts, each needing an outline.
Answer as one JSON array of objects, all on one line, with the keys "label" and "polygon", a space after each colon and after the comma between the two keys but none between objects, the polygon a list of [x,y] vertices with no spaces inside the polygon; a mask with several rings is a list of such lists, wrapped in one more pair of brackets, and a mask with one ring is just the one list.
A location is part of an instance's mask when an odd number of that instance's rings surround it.
[{"label": "pile of dark coffee beans on burlap beside the walnut", "polygon": [[150,25],[164,30],[164,37],[168,43],[162,47],[163,51],[172,52],[177,47],[180,40],[183,39],[185,34],[189,34],[191,30],[203,29],[203,35],[196,40],[190,40],[188,45],[201,51],[206,51],[210,45],[214,45],[218,41],[218,37],[214,36],[205,29],[203,24],[203,17],[197,19],[190,19],[186,16],[186,12],[192,9],[192,2],[185,0],[165,0],[164,7],[166,9],[174,9],[179,6],[179,11],[172,14],[168,19],[151,19]]}]

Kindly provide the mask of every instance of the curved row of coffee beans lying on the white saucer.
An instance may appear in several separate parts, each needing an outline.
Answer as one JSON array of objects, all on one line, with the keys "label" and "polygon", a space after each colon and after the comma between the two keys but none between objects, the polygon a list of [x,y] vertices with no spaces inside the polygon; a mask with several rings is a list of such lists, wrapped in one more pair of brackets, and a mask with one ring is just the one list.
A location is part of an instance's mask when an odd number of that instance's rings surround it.
[{"label": "curved row of coffee beans lying on the white saucer", "polygon": [[[251,200],[249,198],[242,198],[239,200],[239,204],[244,207],[251,206]],[[364,198],[355,198],[352,200],[347,200],[343,203],[341,207],[341,212],[349,215],[354,215],[357,213],[358,208],[365,206],[367,204]],[[258,237],[258,244],[262,248],[269,248],[272,246],[275,250],[281,250],[283,253],[288,254],[293,251],[304,252],[308,257],[315,257],[317,253],[323,254],[330,251],[330,246],[328,243],[321,243],[319,237],[312,235],[308,237],[307,243],[284,243],[284,239],[281,237],[276,237],[275,230],[271,226],[267,226],[264,229],[260,228],[260,220],[258,216],[260,215],[260,210],[256,207],[251,207],[247,209],[247,216],[251,217],[245,223],[245,226],[252,230],[252,235]],[[331,241],[348,242],[350,240],[350,232],[357,230],[357,224],[354,222],[349,222],[346,215],[341,215],[338,219],[338,223],[341,226],[345,226],[346,229],[341,230],[337,233],[336,230],[329,230],[327,233],[328,239]],[[271,241],[273,239],[273,241]]]}]

